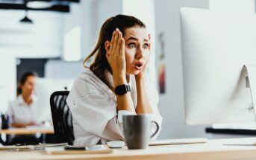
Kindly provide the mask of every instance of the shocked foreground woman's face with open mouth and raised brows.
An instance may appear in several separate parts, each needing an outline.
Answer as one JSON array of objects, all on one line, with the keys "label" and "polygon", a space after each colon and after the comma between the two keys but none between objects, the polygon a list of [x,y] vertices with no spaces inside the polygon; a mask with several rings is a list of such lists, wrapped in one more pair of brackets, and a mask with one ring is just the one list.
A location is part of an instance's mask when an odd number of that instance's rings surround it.
[{"label": "shocked foreground woman's face with open mouth and raised brows", "polygon": [[139,74],[149,60],[149,34],[146,28],[133,27],[125,29],[126,73]]}]

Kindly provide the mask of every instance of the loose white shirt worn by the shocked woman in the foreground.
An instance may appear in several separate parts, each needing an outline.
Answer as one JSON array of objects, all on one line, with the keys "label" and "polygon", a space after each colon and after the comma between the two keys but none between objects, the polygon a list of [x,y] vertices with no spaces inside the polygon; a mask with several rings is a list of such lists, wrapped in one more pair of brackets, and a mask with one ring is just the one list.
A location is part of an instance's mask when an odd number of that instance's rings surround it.
[{"label": "loose white shirt worn by the shocked woman in the foreground", "polygon": [[[113,77],[106,71],[106,77],[113,86]],[[135,77],[130,77],[131,98],[134,106],[137,106],[137,89]],[[158,95],[154,85],[146,82],[149,101],[154,114],[151,120],[156,121],[160,132],[162,118],[157,109]],[[87,146],[97,144],[99,141],[105,144],[106,141],[124,140],[122,131],[122,115],[135,115],[134,112],[116,110],[116,95],[102,82],[93,71],[87,69],[78,77],[72,86],[69,96],[66,99],[69,109],[72,112],[73,129],[75,135],[75,146]],[[152,132],[156,126],[152,124]]]}]

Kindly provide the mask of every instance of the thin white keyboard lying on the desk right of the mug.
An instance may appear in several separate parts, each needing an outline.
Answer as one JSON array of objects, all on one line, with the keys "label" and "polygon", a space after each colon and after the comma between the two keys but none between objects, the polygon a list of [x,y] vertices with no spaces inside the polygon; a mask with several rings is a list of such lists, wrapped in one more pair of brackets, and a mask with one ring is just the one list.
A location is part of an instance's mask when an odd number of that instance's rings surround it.
[{"label": "thin white keyboard lying on the desk right of the mug", "polygon": [[206,142],[207,142],[207,138],[162,139],[162,140],[150,141],[149,146],[170,145],[170,144],[201,144]]}]

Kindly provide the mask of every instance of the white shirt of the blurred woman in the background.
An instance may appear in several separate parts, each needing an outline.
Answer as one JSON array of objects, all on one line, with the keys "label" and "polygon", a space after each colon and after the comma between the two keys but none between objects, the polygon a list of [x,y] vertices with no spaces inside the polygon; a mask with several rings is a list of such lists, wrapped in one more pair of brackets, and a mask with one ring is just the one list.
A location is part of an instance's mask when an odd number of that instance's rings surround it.
[{"label": "white shirt of the blurred woman in the background", "polygon": [[36,103],[37,98],[32,96],[32,103],[28,106],[23,100],[22,95],[19,95],[16,100],[10,102],[7,109],[7,115],[10,116],[11,123],[37,123]]}]

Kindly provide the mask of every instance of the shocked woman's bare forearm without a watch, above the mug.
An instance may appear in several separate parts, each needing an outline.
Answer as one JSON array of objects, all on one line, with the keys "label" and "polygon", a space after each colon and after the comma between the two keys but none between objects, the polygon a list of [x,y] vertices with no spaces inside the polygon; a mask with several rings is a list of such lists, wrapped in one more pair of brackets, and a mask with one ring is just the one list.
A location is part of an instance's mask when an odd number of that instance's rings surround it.
[{"label": "shocked woman's bare forearm without a watch, above the mug", "polygon": [[153,113],[149,103],[149,96],[146,92],[145,77],[136,78],[137,86],[137,114]]}]

